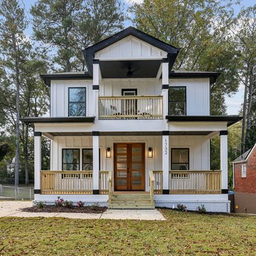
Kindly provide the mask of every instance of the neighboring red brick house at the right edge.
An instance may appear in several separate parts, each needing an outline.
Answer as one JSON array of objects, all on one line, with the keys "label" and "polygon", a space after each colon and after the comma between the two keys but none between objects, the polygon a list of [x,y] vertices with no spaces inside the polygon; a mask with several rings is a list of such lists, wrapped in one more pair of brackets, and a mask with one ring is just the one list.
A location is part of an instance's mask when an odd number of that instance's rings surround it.
[{"label": "neighboring red brick house at the right edge", "polygon": [[256,144],[232,163],[234,210],[238,213],[256,213]]}]

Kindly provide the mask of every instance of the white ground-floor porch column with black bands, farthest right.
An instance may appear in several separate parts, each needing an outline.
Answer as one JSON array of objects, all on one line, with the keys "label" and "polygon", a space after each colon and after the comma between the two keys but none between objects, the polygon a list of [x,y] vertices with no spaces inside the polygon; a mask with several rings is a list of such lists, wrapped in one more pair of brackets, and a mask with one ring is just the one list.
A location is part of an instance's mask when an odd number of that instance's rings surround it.
[{"label": "white ground-floor porch column with black bands, farthest right", "polygon": [[220,131],[222,194],[228,194],[228,131]]}]

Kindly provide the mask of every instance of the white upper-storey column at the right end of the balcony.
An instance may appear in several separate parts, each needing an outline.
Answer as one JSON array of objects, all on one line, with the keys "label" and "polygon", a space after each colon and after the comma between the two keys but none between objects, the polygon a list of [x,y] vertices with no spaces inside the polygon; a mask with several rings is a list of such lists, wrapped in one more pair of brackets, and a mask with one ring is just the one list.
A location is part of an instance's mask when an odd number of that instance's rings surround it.
[{"label": "white upper-storey column at the right end of the balcony", "polygon": [[168,59],[162,60],[162,86],[161,95],[163,95],[163,117],[168,116],[168,91],[169,91],[169,62]]}]

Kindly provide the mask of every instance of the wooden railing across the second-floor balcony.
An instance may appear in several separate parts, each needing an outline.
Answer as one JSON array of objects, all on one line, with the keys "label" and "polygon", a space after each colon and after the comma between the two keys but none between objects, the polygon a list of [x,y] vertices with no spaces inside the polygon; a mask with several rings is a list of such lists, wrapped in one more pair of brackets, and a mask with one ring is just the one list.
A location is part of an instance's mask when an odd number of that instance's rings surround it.
[{"label": "wooden railing across the second-floor balcony", "polygon": [[99,119],[162,119],[163,96],[99,96]]}]

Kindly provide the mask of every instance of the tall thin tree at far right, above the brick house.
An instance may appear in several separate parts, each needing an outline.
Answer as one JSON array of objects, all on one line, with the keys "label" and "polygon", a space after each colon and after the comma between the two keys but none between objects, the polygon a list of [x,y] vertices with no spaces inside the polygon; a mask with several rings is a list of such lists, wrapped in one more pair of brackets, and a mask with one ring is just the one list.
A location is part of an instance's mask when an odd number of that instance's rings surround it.
[{"label": "tall thin tree at far right, above the brick house", "polygon": [[256,5],[244,8],[238,14],[236,23],[231,28],[234,35],[233,45],[240,55],[238,77],[244,85],[242,148],[241,154],[247,149],[245,141],[249,140],[253,117],[253,91],[255,91],[256,66]]}]

